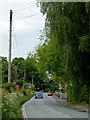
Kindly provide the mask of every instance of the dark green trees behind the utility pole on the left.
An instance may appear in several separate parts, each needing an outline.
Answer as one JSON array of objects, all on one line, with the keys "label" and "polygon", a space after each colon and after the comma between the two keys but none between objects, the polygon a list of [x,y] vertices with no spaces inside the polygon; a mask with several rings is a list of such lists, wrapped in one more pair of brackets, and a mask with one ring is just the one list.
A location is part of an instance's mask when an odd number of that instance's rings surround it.
[{"label": "dark green trees behind the utility pole on the left", "polygon": [[[11,83],[8,83],[8,61],[6,57],[1,57],[0,67],[2,68],[2,83],[3,88],[6,90],[15,90],[15,85],[20,85],[20,89],[23,88],[25,82],[25,88],[29,87],[29,83],[32,83],[32,78],[36,88],[43,89],[43,75],[38,71],[36,66],[36,55],[28,53],[26,60],[23,58],[14,58],[11,63]],[[26,85],[28,84],[28,86]],[[33,86],[33,90],[35,90]]]}]

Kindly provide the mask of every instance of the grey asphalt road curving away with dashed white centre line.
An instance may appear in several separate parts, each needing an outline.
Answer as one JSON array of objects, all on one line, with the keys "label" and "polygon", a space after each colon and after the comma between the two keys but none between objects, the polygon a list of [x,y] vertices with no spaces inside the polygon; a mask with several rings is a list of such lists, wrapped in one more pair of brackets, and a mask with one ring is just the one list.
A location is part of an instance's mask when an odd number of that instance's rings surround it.
[{"label": "grey asphalt road curving away with dashed white centre line", "polygon": [[31,98],[22,106],[24,118],[88,118],[88,113],[61,106],[44,93],[43,99]]}]

